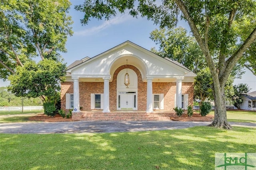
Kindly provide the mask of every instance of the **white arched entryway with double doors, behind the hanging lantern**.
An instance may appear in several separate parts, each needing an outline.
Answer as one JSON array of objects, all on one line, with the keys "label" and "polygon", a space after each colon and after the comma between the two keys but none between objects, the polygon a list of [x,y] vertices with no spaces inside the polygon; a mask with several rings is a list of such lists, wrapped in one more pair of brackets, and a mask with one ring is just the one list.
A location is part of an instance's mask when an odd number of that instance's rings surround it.
[{"label": "white arched entryway with double doors, behind the hanging lantern", "polygon": [[[124,75],[130,76],[130,85],[124,85]],[[138,110],[138,76],[132,69],[122,69],[117,75],[117,110]]]}]

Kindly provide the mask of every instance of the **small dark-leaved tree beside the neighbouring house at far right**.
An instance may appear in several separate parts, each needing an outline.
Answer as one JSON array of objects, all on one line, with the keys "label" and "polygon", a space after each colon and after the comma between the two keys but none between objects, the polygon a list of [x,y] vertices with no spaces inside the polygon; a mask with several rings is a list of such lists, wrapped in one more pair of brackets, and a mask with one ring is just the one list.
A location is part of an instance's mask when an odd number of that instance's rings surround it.
[{"label": "small dark-leaved tree beside the neighbouring house at far right", "polygon": [[232,96],[232,101],[235,107],[240,109],[240,105],[243,103],[242,94],[248,93],[251,89],[247,84],[239,83],[233,86],[234,95]]}]

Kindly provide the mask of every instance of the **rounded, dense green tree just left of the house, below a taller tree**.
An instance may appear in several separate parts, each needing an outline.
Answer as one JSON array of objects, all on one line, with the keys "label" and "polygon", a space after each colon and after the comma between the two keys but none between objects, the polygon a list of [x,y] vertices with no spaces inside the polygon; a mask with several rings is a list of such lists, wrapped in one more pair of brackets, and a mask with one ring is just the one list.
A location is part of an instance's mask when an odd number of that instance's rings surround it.
[{"label": "rounded, dense green tree just left of the house, below a taller tree", "polygon": [[66,65],[52,59],[28,61],[18,66],[16,74],[10,75],[8,90],[17,97],[41,97],[44,103],[59,97],[60,82],[64,81]]}]

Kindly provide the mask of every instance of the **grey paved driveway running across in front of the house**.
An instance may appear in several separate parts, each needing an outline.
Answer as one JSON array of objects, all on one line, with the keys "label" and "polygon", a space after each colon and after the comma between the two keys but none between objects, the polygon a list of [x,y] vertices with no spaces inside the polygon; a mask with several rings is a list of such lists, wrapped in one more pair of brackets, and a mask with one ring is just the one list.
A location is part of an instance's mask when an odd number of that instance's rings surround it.
[{"label": "grey paved driveway running across in front of the house", "polygon": [[[194,126],[206,126],[211,122],[180,121],[78,121],[78,122],[32,122],[1,123],[0,133],[83,133],[83,132],[136,132],[172,130]],[[256,123],[230,123],[232,126],[253,127]]]}]

